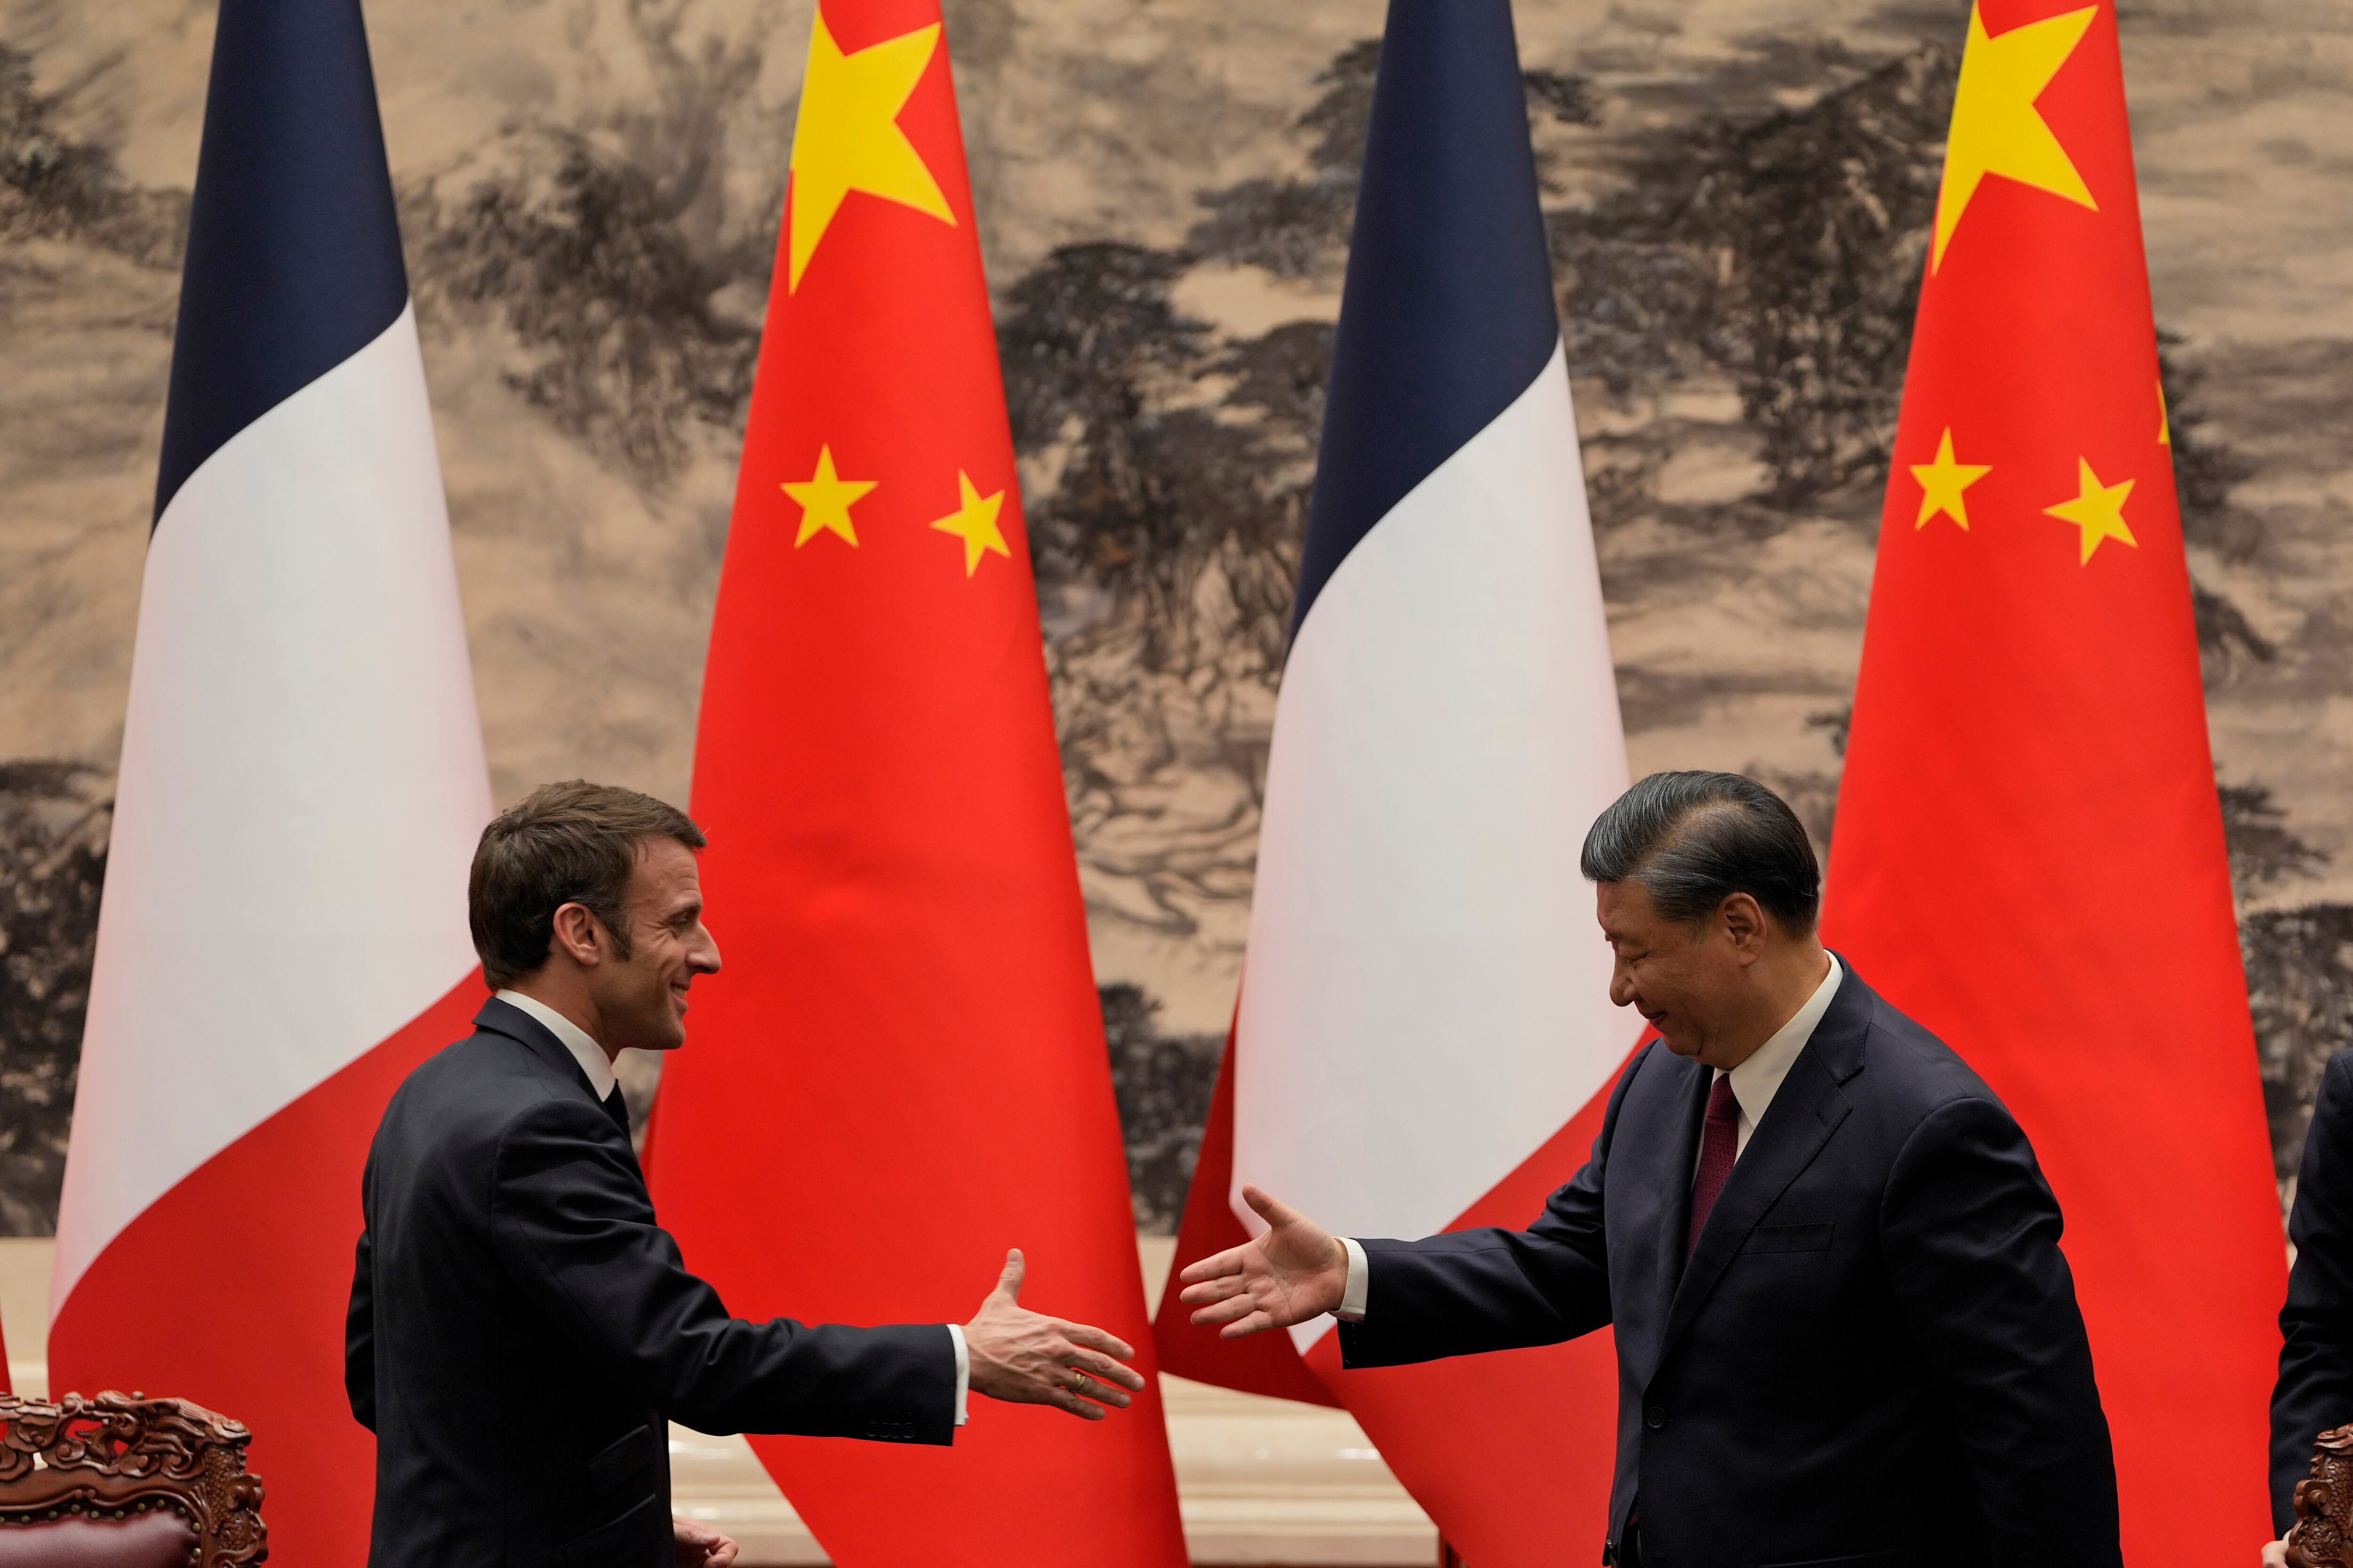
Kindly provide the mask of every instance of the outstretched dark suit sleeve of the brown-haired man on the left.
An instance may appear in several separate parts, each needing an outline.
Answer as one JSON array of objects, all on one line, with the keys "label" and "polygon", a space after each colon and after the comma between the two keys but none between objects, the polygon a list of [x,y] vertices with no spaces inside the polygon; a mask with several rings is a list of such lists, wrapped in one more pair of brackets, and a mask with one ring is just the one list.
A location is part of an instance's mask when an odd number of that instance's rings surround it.
[{"label": "outstretched dark suit sleeve of the brown-haired man on the left", "polygon": [[499,1143],[492,1248],[579,1354],[699,1432],[948,1443],[955,1347],[944,1324],[845,1328],[729,1316],[687,1272],[602,1110],[546,1100]]}]

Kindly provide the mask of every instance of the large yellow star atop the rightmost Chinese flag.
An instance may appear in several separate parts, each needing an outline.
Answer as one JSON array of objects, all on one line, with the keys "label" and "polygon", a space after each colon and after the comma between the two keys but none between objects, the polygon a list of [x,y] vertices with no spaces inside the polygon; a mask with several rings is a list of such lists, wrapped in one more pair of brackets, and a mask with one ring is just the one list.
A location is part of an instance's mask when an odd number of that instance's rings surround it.
[{"label": "large yellow star atop the rightmost Chinese flag", "polygon": [[2059,66],[2082,42],[2097,5],[2061,16],[2028,21],[2000,38],[1986,35],[1986,19],[1969,7],[1969,45],[1960,54],[1960,87],[1953,92],[1953,132],[1944,143],[1944,186],[1937,188],[1937,244],[1927,270],[1944,266],[1960,214],[1988,174],[2049,190],[2099,212],[2099,202],[2075,174],[2035,99],[2059,75]]}]

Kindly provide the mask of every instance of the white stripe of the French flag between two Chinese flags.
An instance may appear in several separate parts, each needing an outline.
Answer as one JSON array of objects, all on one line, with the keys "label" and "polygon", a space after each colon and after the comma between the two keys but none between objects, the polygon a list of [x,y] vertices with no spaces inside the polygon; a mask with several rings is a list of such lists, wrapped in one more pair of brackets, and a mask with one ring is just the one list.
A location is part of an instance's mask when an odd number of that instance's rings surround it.
[{"label": "white stripe of the French flag between two Chinese flags", "polygon": [[[1233,1208],[1449,1225],[1633,1039],[1577,856],[1626,743],[1562,353],[1325,583],[1282,672]],[[1301,1349],[1329,1319],[1292,1331]]]}]

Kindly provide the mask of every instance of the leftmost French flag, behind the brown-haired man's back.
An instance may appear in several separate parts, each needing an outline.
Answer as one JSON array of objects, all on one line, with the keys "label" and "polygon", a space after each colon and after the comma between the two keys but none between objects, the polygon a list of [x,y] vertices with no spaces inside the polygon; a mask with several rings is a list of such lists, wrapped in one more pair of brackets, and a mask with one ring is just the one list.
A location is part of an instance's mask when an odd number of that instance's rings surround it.
[{"label": "leftmost French flag, behind the brown-haired man's back", "polygon": [[254,1429],[275,1556],[362,1563],[360,1164],[480,1001],[489,818],[358,0],[224,0],[172,348],[49,1385]]}]

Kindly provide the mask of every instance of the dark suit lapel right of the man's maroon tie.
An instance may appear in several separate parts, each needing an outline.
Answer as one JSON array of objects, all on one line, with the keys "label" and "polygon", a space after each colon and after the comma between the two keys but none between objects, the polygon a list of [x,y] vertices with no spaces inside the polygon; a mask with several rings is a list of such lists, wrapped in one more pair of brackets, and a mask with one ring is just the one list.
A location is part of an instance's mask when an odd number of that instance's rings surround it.
[{"label": "dark suit lapel right of the man's maroon tie", "polygon": [[[1814,1157],[1831,1143],[1838,1124],[1854,1110],[1840,1084],[1861,1072],[1864,1034],[1868,1027],[1871,992],[1847,969],[1838,994],[1831,999],[1831,1009],[1814,1025],[1814,1037],[1798,1051],[1798,1060],[1791,1063],[1788,1077],[1781,1079],[1765,1121],[1748,1135],[1748,1147],[1741,1152],[1739,1164],[1732,1166],[1732,1178],[1715,1199],[1708,1229],[1701,1232],[1699,1251],[1692,1253],[1692,1262],[1682,1269],[1682,1281],[1675,1286],[1673,1305],[1666,1312],[1666,1333],[1659,1342],[1661,1359],[1699,1314],[1715,1281],[1732,1267],[1732,1258],[1748,1241],[1748,1232],[1788,1192],[1788,1185],[1814,1164]],[[1706,1077],[1713,1079],[1713,1074]],[[1673,1241],[1680,1258],[1692,1213],[1689,1180],[1685,1180],[1682,1206],[1675,1213],[1682,1215],[1682,1229],[1668,1237],[1668,1241]]]}]

